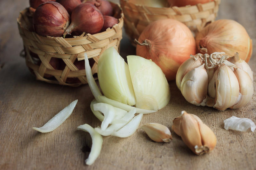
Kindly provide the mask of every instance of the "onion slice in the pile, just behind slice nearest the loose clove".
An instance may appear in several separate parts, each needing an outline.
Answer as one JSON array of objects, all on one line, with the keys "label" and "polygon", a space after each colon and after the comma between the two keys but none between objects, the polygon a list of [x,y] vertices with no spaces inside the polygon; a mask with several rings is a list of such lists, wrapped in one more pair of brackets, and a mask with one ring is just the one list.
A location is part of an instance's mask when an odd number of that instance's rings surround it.
[{"label": "onion slice in the pile, just behind slice nearest the loose clove", "polygon": [[130,112],[128,112],[126,115],[124,115],[123,118],[121,118],[121,121],[124,121],[123,123],[112,124],[106,130],[102,130],[99,127],[95,128],[95,130],[103,136],[109,136],[112,133],[114,133],[115,131],[121,129],[128,122],[130,122],[132,120],[132,118],[134,117],[135,113],[136,113],[136,109],[132,109]]}]

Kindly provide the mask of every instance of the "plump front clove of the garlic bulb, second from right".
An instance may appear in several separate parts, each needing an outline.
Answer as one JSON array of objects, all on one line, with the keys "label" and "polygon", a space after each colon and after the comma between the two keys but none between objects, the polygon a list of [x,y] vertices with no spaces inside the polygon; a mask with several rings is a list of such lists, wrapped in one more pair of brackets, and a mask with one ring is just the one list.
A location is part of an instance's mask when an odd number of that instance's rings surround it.
[{"label": "plump front clove of the garlic bulb, second from right", "polygon": [[216,98],[214,108],[226,110],[236,104],[239,84],[234,72],[225,64],[220,64],[215,79]]}]

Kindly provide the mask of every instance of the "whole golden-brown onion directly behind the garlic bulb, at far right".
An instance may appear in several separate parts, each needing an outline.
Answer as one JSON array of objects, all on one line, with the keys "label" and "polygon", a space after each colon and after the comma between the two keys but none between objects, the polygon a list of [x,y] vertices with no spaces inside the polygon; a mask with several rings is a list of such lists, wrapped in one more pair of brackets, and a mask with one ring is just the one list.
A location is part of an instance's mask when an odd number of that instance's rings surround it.
[{"label": "whole golden-brown onion directly behind the garlic bulb, at far right", "polygon": [[238,52],[241,59],[248,61],[252,55],[252,40],[245,28],[230,19],[220,19],[204,27],[196,35],[198,53],[225,52],[233,56]]}]

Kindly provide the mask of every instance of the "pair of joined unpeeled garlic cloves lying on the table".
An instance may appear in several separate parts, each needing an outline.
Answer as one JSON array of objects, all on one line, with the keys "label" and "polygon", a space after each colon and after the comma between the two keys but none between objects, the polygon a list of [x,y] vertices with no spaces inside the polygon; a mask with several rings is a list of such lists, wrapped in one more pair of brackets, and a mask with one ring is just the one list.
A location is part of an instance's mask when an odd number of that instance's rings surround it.
[{"label": "pair of joined unpeeled garlic cloves lying on the table", "polygon": [[213,131],[199,117],[186,111],[173,120],[172,130],[197,155],[212,151],[217,143]]}]

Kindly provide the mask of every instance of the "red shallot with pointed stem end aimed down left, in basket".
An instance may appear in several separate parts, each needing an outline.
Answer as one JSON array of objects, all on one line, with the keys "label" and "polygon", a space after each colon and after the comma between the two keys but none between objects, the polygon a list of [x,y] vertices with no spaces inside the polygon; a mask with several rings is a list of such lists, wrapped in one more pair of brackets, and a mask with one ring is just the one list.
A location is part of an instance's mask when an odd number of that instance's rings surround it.
[{"label": "red shallot with pointed stem end aimed down left, in basket", "polygon": [[104,24],[102,13],[89,3],[78,5],[72,12],[71,21],[66,33],[76,31],[79,34],[95,34],[100,32]]}]

